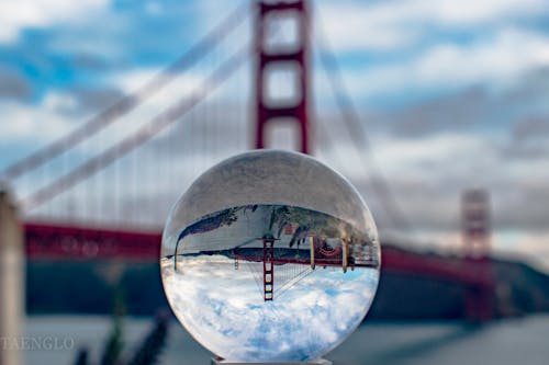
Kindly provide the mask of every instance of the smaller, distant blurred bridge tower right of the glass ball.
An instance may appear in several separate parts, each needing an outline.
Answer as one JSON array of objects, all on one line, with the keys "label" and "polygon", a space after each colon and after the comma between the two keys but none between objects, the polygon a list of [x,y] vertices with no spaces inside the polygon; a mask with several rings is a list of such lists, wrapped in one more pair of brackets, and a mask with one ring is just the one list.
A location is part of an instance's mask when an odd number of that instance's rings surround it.
[{"label": "smaller, distant blurred bridge tower right of the glass ball", "polygon": [[[468,190],[461,198],[464,264],[473,269],[482,285],[467,288],[466,316],[472,321],[494,316],[494,278],[490,260],[490,196],[484,190]],[[468,269],[468,270],[470,270]]]}]

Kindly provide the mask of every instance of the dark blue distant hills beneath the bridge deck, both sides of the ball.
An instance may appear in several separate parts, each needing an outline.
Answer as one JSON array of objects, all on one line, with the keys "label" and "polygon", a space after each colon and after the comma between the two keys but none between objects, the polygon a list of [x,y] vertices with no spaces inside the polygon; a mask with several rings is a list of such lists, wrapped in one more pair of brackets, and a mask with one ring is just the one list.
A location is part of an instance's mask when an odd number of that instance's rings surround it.
[{"label": "dark blue distant hills beneath the bridge deck, both sides of the ball", "polygon": [[[383,247],[383,250],[400,250]],[[421,253],[414,253],[425,255]],[[455,261],[456,258],[445,260]],[[531,266],[494,261],[495,312],[520,316],[549,311],[549,276]],[[167,307],[159,265],[154,262],[27,262],[26,310],[36,313],[110,313],[120,282],[127,312],[149,316]],[[463,318],[463,290],[452,282],[403,275],[382,270],[381,281],[368,315],[379,320]]]}]

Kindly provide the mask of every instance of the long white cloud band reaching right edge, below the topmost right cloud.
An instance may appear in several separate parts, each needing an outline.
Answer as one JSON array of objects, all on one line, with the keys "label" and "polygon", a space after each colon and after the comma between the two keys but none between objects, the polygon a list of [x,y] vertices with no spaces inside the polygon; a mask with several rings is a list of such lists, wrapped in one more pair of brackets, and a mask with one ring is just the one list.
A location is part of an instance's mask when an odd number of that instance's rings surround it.
[{"label": "long white cloud band reaching right edge, below the topmost right cloud", "polygon": [[[351,94],[367,98],[415,90],[505,87],[549,66],[549,36],[517,28],[468,45],[439,44],[411,59],[347,71]],[[318,78],[321,85],[325,82]],[[316,81],[316,79],[315,79]]]}]

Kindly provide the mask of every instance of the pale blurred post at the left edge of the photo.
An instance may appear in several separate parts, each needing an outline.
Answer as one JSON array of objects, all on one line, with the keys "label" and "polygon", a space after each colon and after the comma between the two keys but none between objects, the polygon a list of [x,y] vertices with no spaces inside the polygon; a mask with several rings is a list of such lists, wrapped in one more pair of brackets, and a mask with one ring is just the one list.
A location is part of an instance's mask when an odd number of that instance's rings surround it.
[{"label": "pale blurred post at the left edge of the photo", "polygon": [[0,191],[0,365],[20,365],[14,345],[24,319],[23,228],[10,195]]}]

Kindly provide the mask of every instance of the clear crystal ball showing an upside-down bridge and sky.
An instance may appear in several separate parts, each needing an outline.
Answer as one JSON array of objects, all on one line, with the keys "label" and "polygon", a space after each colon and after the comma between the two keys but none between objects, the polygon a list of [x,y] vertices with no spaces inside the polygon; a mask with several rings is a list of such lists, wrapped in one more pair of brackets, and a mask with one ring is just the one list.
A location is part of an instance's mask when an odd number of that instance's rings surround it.
[{"label": "clear crystal ball showing an upside-down bridge and sky", "polygon": [[302,153],[258,150],[214,166],[177,201],[160,266],[175,315],[214,354],[304,362],[362,321],[380,244],[345,178]]}]

